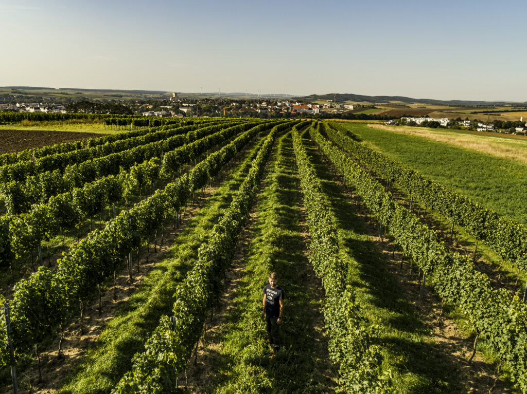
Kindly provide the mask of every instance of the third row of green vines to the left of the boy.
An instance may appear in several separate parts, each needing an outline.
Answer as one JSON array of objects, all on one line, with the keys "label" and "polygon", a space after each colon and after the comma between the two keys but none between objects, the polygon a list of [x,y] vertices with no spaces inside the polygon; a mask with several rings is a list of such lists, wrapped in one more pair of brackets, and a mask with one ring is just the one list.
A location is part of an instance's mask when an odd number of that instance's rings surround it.
[{"label": "third row of green vines to the left of the boy", "polygon": [[[215,134],[208,135],[192,143],[189,143],[182,147],[178,147],[175,150],[168,152],[165,157],[168,157],[172,153],[181,153],[181,155],[176,155],[173,158],[173,160],[177,161],[174,161],[174,163],[171,163],[167,166],[171,169],[171,171],[169,171],[170,174],[177,173],[177,168],[180,168],[183,164],[190,164],[191,161],[194,160],[194,158],[196,158],[196,160],[198,161],[201,161],[203,155],[206,157],[209,154],[213,153],[213,151],[219,150],[222,146],[228,144],[232,139],[235,139],[235,133],[237,133],[238,131],[239,127],[236,126],[228,129],[223,129]],[[238,135],[240,135],[242,132],[243,130]],[[143,167],[144,169],[142,170]],[[137,170],[134,171],[134,169]],[[81,211],[81,214],[83,213],[84,215],[79,216],[76,223],[74,223],[70,228],[65,229],[67,231],[72,231],[74,226],[80,226],[87,218],[92,217],[92,213],[101,212],[103,209],[105,210],[106,207],[101,207],[101,204],[108,200],[105,194],[112,193],[112,190],[120,189],[122,191],[121,194],[114,192],[116,196],[114,201],[116,200],[117,203],[120,203],[122,202],[122,199],[124,198],[124,195],[127,193],[127,191],[133,191],[135,188],[141,190],[143,187],[147,188],[148,186],[150,186],[150,193],[145,193],[142,196],[141,192],[139,193],[139,201],[135,201],[135,196],[132,195],[130,201],[126,201],[126,207],[124,207],[123,205],[116,205],[116,213],[119,214],[119,212],[123,209],[131,209],[136,204],[139,204],[142,199],[148,198],[149,195],[154,193],[155,190],[153,189],[158,189],[158,186],[161,189],[164,187],[164,179],[160,178],[160,173],[163,169],[165,169],[165,167],[164,165],[161,166],[161,163],[149,160],[144,163],[144,165],[132,167],[131,171],[123,171],[123,173],[121,174],[122,177],[118,176],[114,178],[113,176],[110,176],[110,179],[100,179],[94,184],[86,184],[84,185],[84,187],[79,188],[78,190],[74,190],[73,193],[66,193],[63,195],[54,196],[52,197],[50,204],[40,205],[34,208],[28,215],[22,214],[18,216],[6,216],[5,220],[0,219],[0,223],[7,224],[11,231],[13,226],[15,226],[16,228],[16,233],[12,234],[12,232],[9,231],[9,233],[6,234],[6,236],[3,238],[3,241],[8,242],[11,245],[19,245],[20,248],[25,248],[25,251],[23,251],[22,249],[16,250],[16,255],[19,256],[18,259],[15,259],[15,256],[12,256],[13,260],[11,261],[6,261],[6,258],[0,259],[0,269],[6,270],[7,268],[9,268],[13,276],[13,270],[16,271],[19,266],[24,265],[23,257],[26,255],[26,253],[30,252],[30,250],[28,249],[28,246],[31,245],[29,240],[31,239],[31,236],[33,236],[33,234],[35,233],[35,228],[43,228],[44,230],[41,231],[41,233],[45,233],[46,236],[50,237],[48,238],[50,240],[55,235],[58,235],[60,232],[60,228],[56,227],[55,231],[53,231],[52,224],[56,220],[58,220],[57,218],[63,217],[64,213],[73,211],[73,206],[78,206],[76,205],[77,198],[85,199],[87,202],[95,204],[97,209],[91,209],[89,213],[87,211]],[[167,174],[167,176],[170,174]],[[161,183],[158,184],[158,181],[160,180]],[[144,185],[142,183],[144,183]],[[127,184],[131,185],[127,186]],[[134,189],[126,190],[129,186],[132,186]],[[129,198],[125,199],[129,200]],[[129,206],[129,203],[132,203],[132,205]],[[82,206],[79,206],[79,208],[77,209],[81,210],[82,208]],[[47,210],[48,214],[42,215],[42,210]],[[54,212],[54,210],[56,211]],[[108,220],[110,219],[111,216]],[[102,226],[102,221],[99,225]],[[27,243],[21,243],[19,241],[21,239],[27,239],[28,241]],[[43,241],[45,241],[45,239],[43,239]],[[15,252],[15,250],[13,250],[13,252]],[[36,253],[38,255],[38,250],[36,251]],[[49,254],[48,257],[50,257]],[[30,257],[30,259],[31,258],[32,257]],[[31,265],[33,264],[34,261],[31,261]]]}]

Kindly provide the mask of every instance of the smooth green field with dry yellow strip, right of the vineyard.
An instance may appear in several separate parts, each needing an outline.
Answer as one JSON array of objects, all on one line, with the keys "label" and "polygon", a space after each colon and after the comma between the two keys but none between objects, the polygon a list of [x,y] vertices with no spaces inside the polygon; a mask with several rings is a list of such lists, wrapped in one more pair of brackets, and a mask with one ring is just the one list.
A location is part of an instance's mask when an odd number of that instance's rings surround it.
[{"label": "smooth green field with dry yellow strip, right of the vineyard", "polygon": [[[515,155],[519,158],[524,158],[527,153],[527,141],[465,135],[453,146],[451,142],[455,142],[459,134],[451,137],[452,132],[409,127],[412,133],[415,129],[420,130],[418,135],[407,135],[395,130],[363,125],[346,127],[369,146],[379,149],[389,157],[494,209],[503,216],[527,224],[527,215],[521,209],[521,201],[527,198],[527,189],[523,183],[523,179],[527,177],[527,163],[497,157],[493,154],[493,147],[489,149],[489,140],[497,146],[509,148],[508,150],[512,150],[510,156]],[[428,137],[423,137],[424,134]],[[446,136],[448,142],[437,141],[440,136]],[[466,141],[486,147],[485,153],[462,148]]]}]

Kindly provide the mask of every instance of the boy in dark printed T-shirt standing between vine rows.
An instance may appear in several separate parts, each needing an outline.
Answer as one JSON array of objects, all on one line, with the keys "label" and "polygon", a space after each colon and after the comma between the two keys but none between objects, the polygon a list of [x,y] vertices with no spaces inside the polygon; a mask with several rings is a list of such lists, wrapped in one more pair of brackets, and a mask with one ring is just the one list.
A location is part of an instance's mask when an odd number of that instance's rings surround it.
[{"label": "boy in dark printed T-shirt standing between vine rows", "polygon": [[278,286],[278,275],[276,272],[271,272],[269,274],[269,285],[264,287],[262,318],[266,318],[267,342],[273,346],[274,353],[280,350],[280,324],[284,311],[284,298],[284,290]]}]

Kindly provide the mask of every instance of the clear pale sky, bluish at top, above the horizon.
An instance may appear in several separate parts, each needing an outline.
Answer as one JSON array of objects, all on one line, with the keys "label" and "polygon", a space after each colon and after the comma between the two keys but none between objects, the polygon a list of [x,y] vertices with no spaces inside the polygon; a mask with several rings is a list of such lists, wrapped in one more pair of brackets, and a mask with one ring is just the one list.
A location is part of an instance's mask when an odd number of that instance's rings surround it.
[{"label": "clear pale sky, bluish at top, above the horizon", "polygon": [[0,0],[0,86],[527,100],[527,2]]}]

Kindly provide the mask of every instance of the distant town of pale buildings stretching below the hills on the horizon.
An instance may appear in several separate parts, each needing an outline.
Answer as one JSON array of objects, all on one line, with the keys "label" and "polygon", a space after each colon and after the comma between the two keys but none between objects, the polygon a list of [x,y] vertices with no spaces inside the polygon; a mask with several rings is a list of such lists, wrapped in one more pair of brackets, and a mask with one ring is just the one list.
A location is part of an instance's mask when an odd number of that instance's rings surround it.
[{"label": "distant town of pale buildings stretching below the hills on the horizon", "polygon": [[[249,118],[284,118],[284,117],[318,117],[362,120],[383,120],[387,125],[407,125],[424,127],[442,127],[453,129],[477,130],[479,132],[498,132],[527,135],[527,122],[523,117],[516,122],[482,122],[473,119],[409,117],[404,114],[386,119],[385,115],[365,114],[363,110],[375,108],[372,105],[339,104],[331,100],[309,103],[297,100],[277,99],[189,99],[180,98],[173,93],[168,99],[130,100],[128,102],[110,100],[79,100],[75,103],[25,103],[11,102],[0,104],[0,111],[30,113],[91,113],[91,114],[124,114],[159,117],[249,117]],[[357,112],[359,111],[359,112]],[[525,119],[527,120],[527,119]]]}]

